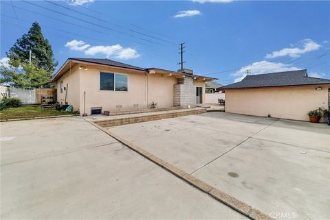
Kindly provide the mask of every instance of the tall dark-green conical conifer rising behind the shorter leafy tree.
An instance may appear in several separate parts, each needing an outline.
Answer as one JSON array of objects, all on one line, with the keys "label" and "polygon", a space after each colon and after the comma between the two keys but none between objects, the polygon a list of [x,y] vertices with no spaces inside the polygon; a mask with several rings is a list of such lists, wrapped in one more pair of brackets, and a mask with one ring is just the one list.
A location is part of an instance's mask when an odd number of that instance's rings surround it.
[{"label": "tall dark-green conical conifer rising behind the shorter leafy tree", "polygon": [[39,23],[34,22],[28,34],[17,39],[16,43],[10,48],[7,56],[10,58],[9,64],[16,68],[22,63],[29,63],[30,49],[34,58],[32,63],[38,69],[45,69],[47,72],[53,72],[57,66],[54,60],[52,46],[47,39],[43,37]]}]

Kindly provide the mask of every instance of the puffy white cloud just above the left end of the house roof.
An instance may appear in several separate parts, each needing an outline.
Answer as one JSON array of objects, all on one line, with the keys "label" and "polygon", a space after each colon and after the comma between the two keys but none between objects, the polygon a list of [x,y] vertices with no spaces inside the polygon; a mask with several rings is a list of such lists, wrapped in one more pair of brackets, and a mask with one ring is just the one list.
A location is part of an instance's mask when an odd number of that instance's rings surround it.
[{"label": "puffy white cloud just above the left end of the house roof", "polygon": [[107,58],[113,57],[121,60],[128,60],[140,57],[140,54],[131,47],[122,47],[121,45],[97,45],[91,46],[82,40],[72,40],[67,42],[65,47],[71,50],[83,51],[86,55],[95,56],[96,54],[103,54]]}]

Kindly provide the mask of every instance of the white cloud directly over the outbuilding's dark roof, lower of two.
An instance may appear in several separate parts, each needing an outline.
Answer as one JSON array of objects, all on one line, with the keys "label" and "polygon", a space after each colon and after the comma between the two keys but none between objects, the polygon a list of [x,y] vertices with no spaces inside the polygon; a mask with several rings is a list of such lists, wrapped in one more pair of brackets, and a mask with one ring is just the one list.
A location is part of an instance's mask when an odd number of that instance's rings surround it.
[{"label": "white cloud directly over the outbuilding's dark roof, lower of two", "polygon": [[266,60],[263,60],[260,62],[254,62],[248,66],[243,66],[241,69],[239,69],[239,71],[236,71],[236,73],[232,74],[236,77],[234,82],[239,82],[243,80],[243,78],[246,76],[245,71],[248,69],[251,71],[251,75],[298,70],[298,68],[296,66],[292,66],[292,64],[283,64],[281,62],[268,62]]}]

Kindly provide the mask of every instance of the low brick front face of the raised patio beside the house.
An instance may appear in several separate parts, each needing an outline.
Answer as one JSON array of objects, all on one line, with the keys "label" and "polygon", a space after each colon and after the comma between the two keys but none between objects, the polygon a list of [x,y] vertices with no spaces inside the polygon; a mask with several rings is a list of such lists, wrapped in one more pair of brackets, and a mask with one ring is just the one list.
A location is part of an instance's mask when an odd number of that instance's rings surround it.
[{"label": "low brick front face of the raised patio beside the house", "polygon": [[186,116],[190,114],[201,114],[206,113],[206,108],[199,108],[196,110],[186,110],[182,112],[167,112],[167,113],[160,113],[160,114],[149,114],[144,116],[137,116],[137,117],[125,117],[122,119],[109,119],[109,120],[102,120],[102,121],[93,121],[97,125],[101,127],[112,127],[112,126],[119,126],[119,125],[127,125],[133,123],[139,123],[144,121],[155,121],[161,119],[170,119],[175,117]]}]

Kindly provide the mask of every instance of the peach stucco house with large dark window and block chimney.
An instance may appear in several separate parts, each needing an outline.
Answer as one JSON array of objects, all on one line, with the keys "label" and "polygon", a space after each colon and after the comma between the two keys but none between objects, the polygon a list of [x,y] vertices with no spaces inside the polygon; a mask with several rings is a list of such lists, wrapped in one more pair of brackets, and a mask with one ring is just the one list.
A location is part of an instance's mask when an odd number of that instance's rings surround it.
[{"label": "peach stucco house with large dark window and block chimney", "polygon": [[205,83],[214,78],[140,68],[109,59],[69,58],[54,75],[58,101],[87,114],[104,110],[132,110],[197,106],[205,103]]}]

